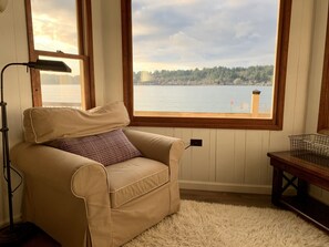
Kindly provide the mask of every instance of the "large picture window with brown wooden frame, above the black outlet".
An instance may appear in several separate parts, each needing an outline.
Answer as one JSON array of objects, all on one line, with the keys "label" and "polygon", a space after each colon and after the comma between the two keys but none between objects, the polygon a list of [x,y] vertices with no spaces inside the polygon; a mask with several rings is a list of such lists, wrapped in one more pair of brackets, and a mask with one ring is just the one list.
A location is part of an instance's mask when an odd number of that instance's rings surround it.
[{"label": "large picture window with brown wooden frame, above the black outlet", "polygon": [[292,0],[122,0],[137,126],[281,130]]}]

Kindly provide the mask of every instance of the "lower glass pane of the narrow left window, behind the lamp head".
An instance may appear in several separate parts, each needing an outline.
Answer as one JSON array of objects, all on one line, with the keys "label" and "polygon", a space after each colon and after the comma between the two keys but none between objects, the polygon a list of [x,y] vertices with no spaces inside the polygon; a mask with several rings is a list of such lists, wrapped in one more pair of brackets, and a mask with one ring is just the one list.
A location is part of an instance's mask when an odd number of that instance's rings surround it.
[{"label": "lower glass pane of the narrow left window, behind the lamp head", "polygon": [[[40,58],[48,59],[50,58]],[[81,60],[56,59],[66,63],[72,73],[40,71],[42,106],[82,109],[83,70]]]}]

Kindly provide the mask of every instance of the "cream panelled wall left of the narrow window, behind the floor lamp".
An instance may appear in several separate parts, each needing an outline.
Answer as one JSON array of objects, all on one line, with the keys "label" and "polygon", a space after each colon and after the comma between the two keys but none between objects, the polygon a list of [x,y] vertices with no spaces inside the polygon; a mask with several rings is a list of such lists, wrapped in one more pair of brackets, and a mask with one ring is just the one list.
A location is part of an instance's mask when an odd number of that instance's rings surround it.
[{"label": "cream panelled wall left of the narrow window, behind the floor lamp", "polygon": [[[27,62],[28,43],[23,1],[8,1],[8,8],[0,13],[0,68],[10,62]],[[22,141],[22,110],[32,105],[29,73],[23,66],[8,68],[3,74],[4,101],[8,103],[8,125],[10,146]],[[2,157],[2,148],[1,148]],[[2,158],[1,158],[2,159]],[[0,226],[8,222],[7,184],[0,172]],[[12,185],[19,184],[12,173]],[[22,187],[13,196],[16,218],[20,215]]]}]

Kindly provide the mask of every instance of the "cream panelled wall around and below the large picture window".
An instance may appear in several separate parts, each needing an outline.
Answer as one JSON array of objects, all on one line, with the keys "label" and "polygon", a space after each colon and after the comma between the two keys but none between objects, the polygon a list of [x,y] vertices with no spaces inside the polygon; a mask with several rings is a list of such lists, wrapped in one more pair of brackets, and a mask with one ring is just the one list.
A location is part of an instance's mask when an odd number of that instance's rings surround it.
[{"label": "cream panelled wall around and below the large picture window", "polygon": [[[202,147],[189,147],[184,153],[179,173],[181,187],[270,193],[271,167],[267,152],[288,150],[288,136],[305,132],[310,58],[313,47],[322,42],[312,39],[313,16],[327,14],[323,11],[315,12],[319,11],[315,9],[317,1],[292,2],[282,131],[138,127],[146,132],[183,138],[186,146],[191,138],[203,140]],[[328,0],[322,2],[328,4]],[[121,39],[117,39],[120,37],[117,33],[121,33],[120,16],[117,16],[120,1],[105,4],[115,11],[117,18],[116,20],[111,18],[112,29],[105,34],[104,42],[112,44],[106,47],[106,54],[107,60],[113,63],[121,61]],[[105,9],[103,8],[104,11]],[[105,13],[103,18],[106,19]],[[320,29],[323,31],[323,27]],[[117,64],[115,70],[107,68],[109,76],[105,78],[109,79],[111,91],[107,91],[104,101],[122,100],[122,68]]]}]

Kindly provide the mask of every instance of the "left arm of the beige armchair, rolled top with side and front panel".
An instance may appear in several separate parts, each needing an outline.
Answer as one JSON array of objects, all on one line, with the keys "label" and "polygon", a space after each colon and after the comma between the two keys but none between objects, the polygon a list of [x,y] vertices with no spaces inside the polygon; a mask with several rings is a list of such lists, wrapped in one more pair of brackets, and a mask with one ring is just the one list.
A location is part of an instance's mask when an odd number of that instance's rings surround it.
[{"label": "left arm of the beige armchair, rolled top with side and front panel", "polygon": [[[80,238],[90,235],[93,246],[106,246],[104,239],[111,233],[111,204],[107,173],[103,165],[54,147],[29,143],[16,145],[11,158],[25,178],[30,204],[27,206],[32,212],[37,207],[45,208],[33,212],[32,218],[52,222],[52,233],[59,233],[59,227],[71,227],[75,235],[81,223],[85,222],[88,226],[81,229],[79,235],[84,236]],[[48,208],[49,204],[51,208]]]}]

